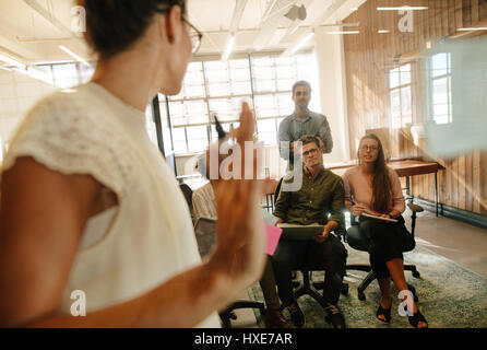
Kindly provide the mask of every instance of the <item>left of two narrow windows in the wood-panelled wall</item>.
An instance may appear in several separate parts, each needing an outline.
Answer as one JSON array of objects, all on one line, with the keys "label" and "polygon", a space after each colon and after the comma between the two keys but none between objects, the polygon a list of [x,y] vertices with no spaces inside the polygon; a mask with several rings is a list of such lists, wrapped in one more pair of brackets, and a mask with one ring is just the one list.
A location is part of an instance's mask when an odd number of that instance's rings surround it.
[{"label": "left of two narrow windows in the wood-panelled wall", "polygon": [[392,128],[413,122],[409,63],[389,71],[389,96]]}]

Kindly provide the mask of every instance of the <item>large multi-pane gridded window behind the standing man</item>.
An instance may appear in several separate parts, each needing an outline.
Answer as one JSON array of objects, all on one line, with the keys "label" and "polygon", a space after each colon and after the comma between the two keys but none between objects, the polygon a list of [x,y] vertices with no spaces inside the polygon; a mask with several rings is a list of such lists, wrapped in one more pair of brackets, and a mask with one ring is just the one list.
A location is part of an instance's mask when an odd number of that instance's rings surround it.
[{"label": "large multi-pane gridded window behind the standing man", "polygon": [[[312,54],[191,62],[181,92],[169,97],[173,150],[176,154],[203,151],[209,139],[217,137],[212,126],[214,115],[225,130],[230,125],[237,128],[242,101],[253,104],[259,140],[276,144],[278,125],[294,109],[292,86],[296,81],[311,83],[314,97],[310,109],[320,110],[317,75]],[[159,96],[159,101],[164,119],[165,97]]]}]

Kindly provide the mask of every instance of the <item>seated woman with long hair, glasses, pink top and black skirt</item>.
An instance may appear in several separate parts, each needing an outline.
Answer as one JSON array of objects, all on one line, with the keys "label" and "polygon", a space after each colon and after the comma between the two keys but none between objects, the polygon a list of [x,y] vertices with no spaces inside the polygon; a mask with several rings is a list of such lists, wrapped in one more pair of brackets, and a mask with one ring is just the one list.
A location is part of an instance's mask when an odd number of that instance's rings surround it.
[{"label": "seated woman with long hair, glasses, pink top and black skirt", "polygon": [[[360,217],[359,230],[369,240],[370,265],[377,276],[382,294],[377,318],[383,323],[391,320],[391,277],[397,290],[407,291],[404,277],[403,252],[408,232],[401,215],[404,197],[397,174],[385,165],[382,144],[373,133],[361,138],[358,148],[357,166],[344,176],[345,206],[356,217],[364,212],[397,219],[397,223]],[[407,298],[407,296],[406,296]],[[428,327],[425,317],[414,301],[414,316],[408,316],[415,328]]]}]

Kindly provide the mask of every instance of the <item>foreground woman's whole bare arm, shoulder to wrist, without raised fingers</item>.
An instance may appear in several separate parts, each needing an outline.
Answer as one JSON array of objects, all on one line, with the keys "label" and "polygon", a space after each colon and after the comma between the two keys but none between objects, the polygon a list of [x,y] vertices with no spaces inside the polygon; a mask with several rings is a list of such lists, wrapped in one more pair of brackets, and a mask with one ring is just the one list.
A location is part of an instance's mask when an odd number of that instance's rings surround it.
[{"label": "foreground woman's whole bare arm, shoulder to wrist, without raised fingers", "polygon": [[224,270],[213,262],[86,317],[57,314],[99,185],[88,175],[62,175],[21,158],[3,174],[2,186],[1,326],[188,326],[228,302],[221,292]]}]

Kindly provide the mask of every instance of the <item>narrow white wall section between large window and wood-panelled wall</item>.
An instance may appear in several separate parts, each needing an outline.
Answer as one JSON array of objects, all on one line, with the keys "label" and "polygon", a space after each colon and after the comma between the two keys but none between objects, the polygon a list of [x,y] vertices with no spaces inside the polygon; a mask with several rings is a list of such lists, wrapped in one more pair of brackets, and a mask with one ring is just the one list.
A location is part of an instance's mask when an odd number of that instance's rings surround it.
[{"label": "narrow white wall section between large window and wood-panelled wall", "polygon": [[348,148],[348,118],[346,113],[346,75],[342,35],[326,34],[329,27],[316,28],[314,54],[321,94],[321,112],[326,116],[333,138],[333,151],[325,163],[346,162]]}]

